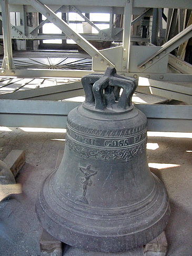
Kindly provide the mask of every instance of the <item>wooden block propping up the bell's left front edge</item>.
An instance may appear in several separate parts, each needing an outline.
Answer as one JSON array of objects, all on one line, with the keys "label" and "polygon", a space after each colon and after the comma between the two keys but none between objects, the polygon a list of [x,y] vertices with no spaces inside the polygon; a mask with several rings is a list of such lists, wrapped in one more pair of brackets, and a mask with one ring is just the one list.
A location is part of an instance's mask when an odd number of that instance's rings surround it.
[{"label": "wooden block propping up the bell's left front edge", "polygon": [[62,242],[52,237],[46,230],[43,230],[40,239],[41,256],[62,256]]}]

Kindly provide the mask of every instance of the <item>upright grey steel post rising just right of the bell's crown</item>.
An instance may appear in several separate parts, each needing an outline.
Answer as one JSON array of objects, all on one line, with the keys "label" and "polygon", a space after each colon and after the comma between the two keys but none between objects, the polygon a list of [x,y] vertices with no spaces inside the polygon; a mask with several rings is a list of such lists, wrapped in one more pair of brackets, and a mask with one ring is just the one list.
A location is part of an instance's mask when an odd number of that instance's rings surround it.
[{"label": "upright grey steel post rising just right of the bell's crown", "polygon": [[130,32],[132,26],[132,4],[133,0],[127,0],[124,11],[124,31],[123,31],[123,58],[122,71],[128,72],[129,52],[130,52]]}]

